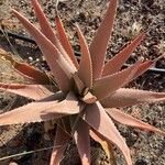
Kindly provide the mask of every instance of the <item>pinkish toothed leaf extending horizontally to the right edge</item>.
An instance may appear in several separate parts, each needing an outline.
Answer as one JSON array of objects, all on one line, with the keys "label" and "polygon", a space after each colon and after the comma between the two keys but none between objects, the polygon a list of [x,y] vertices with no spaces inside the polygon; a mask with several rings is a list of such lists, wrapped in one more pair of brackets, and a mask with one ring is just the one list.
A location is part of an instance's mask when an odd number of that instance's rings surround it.
[{"label": "pinkish toothed leaf extending horizontally to the right edge", "polygon": [[128,107],[139,103],[165,101],[165,92],[152,92],[138,89],[118,89],[113,95],[101,100],[105,108]]}]

